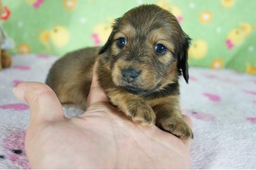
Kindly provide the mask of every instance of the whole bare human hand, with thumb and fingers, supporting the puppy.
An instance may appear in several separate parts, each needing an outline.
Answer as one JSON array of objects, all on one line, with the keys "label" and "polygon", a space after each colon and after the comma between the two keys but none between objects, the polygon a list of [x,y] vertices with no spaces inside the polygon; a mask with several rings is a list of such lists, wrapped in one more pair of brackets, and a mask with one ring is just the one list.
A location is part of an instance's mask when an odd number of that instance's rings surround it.
[{"label": "whole bare human hand, with thumb and fingers, supporting the puppy", "polygon": [[95,69],[87,110],[78,118],[64,117],[46,84],[23,82],[14,94],[31,110],[25,151],[32,168],[189,168],[190,139],[127,119],[109,103]]}]

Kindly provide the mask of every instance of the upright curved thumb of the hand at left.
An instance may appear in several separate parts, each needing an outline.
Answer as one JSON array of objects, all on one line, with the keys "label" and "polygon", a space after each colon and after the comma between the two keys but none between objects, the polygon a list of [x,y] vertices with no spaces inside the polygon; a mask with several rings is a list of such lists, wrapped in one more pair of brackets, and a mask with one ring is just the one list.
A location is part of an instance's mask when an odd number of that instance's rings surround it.
[{"label": "upright curved thumb of the hand at left", "polygon": [[14,89],[16,98],[30,107],[31,123],[64,119],[61,104],[50,87],[41,82],[22,82]]}]

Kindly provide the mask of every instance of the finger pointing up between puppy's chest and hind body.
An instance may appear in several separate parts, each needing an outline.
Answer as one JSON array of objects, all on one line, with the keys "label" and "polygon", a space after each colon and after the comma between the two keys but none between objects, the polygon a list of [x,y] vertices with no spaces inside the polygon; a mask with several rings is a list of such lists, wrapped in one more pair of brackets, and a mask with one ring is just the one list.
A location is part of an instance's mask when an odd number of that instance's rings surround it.
[{"label": "finger pointing up between puppy's chest and hind body", "polygon": [[96,72],[97,65],[98,65],[98,62],[96,61],[93,69],[93,79],[92,79],[91,89],[87,97],[87,108],[97,102],[109,102],[106,93],[99,86],[99,83],[98,83],[98,76]]}]

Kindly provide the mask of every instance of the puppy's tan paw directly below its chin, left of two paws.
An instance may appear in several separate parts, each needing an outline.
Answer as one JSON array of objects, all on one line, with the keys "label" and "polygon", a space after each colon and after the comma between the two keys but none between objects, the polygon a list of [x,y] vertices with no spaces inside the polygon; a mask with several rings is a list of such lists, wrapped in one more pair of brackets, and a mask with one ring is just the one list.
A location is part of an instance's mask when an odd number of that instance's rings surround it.
[{"label": "puppy's tan paw directly below its chin, left of two paws", "polygon": [[148,125],[156,124],[156,114],[153,109],[145,103],[135,103],[129,105],[127,116],[131,117],[136,123]]}]

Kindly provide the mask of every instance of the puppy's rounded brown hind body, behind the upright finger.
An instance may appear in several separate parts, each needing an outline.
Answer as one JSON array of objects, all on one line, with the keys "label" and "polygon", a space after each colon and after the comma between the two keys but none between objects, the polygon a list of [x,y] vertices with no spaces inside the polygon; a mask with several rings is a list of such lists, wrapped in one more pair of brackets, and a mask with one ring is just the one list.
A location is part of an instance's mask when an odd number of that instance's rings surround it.
[{"label": "puppy's rounded brown hind body, behind the upright finger", "polygon": [[86,109],[98,50],[99,47],[70,52],[50,68],[46,84],[54,90],[62,104],[74,103]]}]

